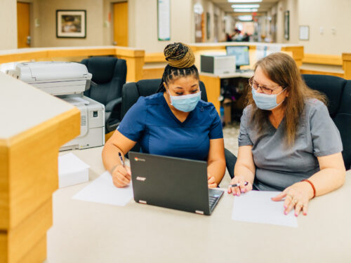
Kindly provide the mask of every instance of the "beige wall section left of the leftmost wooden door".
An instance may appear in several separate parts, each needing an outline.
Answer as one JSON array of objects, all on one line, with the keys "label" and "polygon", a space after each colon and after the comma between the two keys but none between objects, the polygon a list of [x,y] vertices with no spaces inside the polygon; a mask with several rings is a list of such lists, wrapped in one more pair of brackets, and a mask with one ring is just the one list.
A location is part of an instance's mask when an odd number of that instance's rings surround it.
[{"label": "beige wall section left of the leftmost wooden door", "polygon": [[15,0],[0,0],[0,49],[17,48],[17,6]]}]

